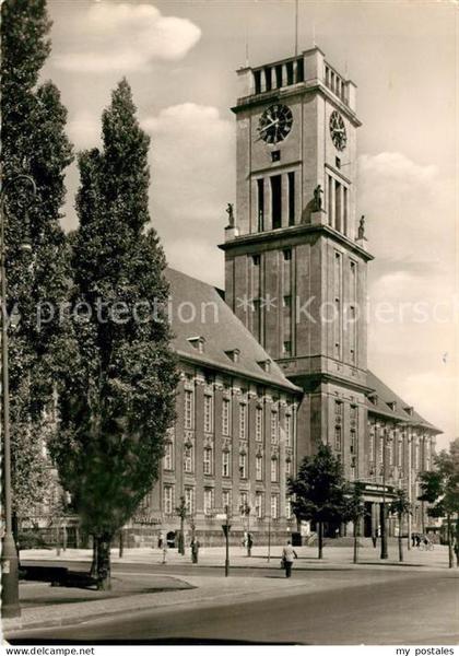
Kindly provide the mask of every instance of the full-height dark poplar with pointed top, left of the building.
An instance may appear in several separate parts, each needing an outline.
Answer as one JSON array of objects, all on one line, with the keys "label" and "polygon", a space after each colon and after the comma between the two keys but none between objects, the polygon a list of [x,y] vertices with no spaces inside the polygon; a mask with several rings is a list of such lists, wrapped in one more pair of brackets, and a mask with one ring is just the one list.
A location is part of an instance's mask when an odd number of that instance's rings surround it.
[{"label": "full-height dark poplar with pointed top, left of the building", "polygon": [[146,230],[148,151],[122,80],[103,114],[102,150],[79,156],[73,309],[51,442],[83,528],[94,536],[99,587],[110,585],[114,535],[156,481],[178,380],[166,261],[155,231]]}]

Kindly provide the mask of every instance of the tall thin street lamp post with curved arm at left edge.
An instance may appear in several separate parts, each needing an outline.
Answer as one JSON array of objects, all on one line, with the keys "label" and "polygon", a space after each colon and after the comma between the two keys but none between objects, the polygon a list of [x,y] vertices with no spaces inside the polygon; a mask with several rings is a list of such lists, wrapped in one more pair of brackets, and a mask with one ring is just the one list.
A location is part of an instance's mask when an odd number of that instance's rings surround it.
[{"label": "tall thin street lamp post with curved arm at left edge", "polygon": [[[19,175],[16,181],[23,179],[32,186],[36,194],[34,179],[28,175]],[[4,201],[7,187],[1,189],[0,197],[0,254],[1,254],[1,364],[2,364],[2,430],[3,430],[3,504],[4,535],[1,555],[1,609],[4,618],[15,618],[21,614],[19,602],[19,563],[17,550],[13,536],[12,524],[12,490],[11,490],[11,440],[10,440],[10,378],[8,367],[8,308],[7,308],[7,267],[4,239]]]}]

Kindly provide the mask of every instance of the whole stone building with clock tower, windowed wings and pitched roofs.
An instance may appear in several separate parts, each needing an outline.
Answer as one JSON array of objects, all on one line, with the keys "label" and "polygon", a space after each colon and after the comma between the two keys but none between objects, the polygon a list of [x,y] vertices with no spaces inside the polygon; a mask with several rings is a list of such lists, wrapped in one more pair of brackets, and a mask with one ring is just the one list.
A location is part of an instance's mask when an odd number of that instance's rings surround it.
[{"label": "whole stone building with clock tower, windowed wings and pitched roofs", "polygon": [[214,304],[219,320],[173,316],[177,420],[136,522],[143,513],[143,524],[172,534],[184,497],[203,542],[223,540],[226,506],[235,536],[284,539],[296,530],[286,479],[326,443],[345,477],[365,483],[364,535],[377,532],[397,488],[415,503],[413,530],[424,530],[419,476],[440,431],[367,368],[373,256],[356,216],[356,86],[317,47],[238,78],[224,301],[168,272],[175,306]]}]

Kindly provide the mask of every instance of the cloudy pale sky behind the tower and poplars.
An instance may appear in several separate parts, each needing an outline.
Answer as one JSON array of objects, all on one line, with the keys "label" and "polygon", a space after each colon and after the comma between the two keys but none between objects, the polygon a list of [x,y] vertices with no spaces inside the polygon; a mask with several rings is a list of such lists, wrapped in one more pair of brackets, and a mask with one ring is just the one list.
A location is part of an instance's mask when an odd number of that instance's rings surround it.
[{"label": "cloudy pale sky behind the tower and poplars", "polygon": [[[75,151],[99,144],[102,112],[126,77],[152,139],[150,211],[167,259],[223,286],[235,71],[247,57],[293,56],[294,0],[48,0],[48,10],[44,79],[61,91]],[[459,436],[458,4],[298,0],[298,48],[314,43],[358,87],[357,216],[375,256],[368,366],[444,431],[443,448]],[[73,165],[69,230],[78,181]],[[399,308],[396,320],[381,319],[382,303]]]}]

